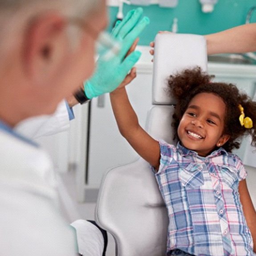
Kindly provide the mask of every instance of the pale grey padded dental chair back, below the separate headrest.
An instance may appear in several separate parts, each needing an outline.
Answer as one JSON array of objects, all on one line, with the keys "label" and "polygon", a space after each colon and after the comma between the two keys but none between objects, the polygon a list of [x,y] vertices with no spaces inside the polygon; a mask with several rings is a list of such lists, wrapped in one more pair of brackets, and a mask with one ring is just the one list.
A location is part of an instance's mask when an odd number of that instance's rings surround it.
[{"label": "pale grey padded dental chair back, below the separate headrest", "polygon": [[[174,106],[150,109],[147,123],[151,136],[172,141],[173,110]],[[154,174],[142,158],[106,172],[95,218],[114,236],[117,256],[165,255],[167,211]]]}]

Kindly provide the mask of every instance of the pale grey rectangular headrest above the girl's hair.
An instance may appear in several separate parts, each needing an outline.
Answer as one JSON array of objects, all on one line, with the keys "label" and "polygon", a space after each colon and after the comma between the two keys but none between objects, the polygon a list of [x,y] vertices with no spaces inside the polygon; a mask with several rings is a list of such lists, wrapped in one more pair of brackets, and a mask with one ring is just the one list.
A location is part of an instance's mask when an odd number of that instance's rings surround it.
[{"label": "pale grey rectangular headrest above the girl's hair", "polygon": [[159,33],[155,42],[153,104],[175,104],[166,91],[167,78],[197,65],[207,71],[206,41],[199,35]]}]

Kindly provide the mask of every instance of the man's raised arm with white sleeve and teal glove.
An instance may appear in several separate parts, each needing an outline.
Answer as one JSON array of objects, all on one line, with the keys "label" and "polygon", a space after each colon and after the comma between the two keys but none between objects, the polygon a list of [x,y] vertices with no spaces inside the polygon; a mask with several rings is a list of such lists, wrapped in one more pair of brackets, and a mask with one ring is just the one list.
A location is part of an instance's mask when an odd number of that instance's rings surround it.
[{"label": "man's raised arm with white sleeve and teal glove", "polygon": [[[111,37],[121,44],[121,50],[117,56],[107,61],[99,57],[95,73],[81,85],[82,93],[85,93],[86,98],[98,97],[116,89],[138,61],[141,53],[134,49],[129,52],[129,49],[149,24],[149,19],[142,15],[142,8],[131,10],[122,22],[117,23],[113,28]],[[59,104],[54,114],[24,120],[15,127],[15,130],[28,138],[65,131],[69,129],[69,121],[74,118],[72,107],[77,103],[79,103],[77,98],[70,95]]]}]

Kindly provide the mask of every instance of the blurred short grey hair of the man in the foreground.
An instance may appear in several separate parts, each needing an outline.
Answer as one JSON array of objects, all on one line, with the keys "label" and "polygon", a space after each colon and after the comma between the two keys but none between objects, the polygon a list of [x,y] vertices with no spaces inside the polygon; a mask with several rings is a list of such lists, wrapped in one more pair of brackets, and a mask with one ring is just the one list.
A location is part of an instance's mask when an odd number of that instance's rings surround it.
[{"label": "blurred short grey hair of the man in the foreground", "polygon": [[[104,0],[0,0],[0,57],[23,33],[29,19],[45,11],[86,19]],[[74,28],[68,33],[74,35]],[[9,46],[9,47],[8,47]]]}]

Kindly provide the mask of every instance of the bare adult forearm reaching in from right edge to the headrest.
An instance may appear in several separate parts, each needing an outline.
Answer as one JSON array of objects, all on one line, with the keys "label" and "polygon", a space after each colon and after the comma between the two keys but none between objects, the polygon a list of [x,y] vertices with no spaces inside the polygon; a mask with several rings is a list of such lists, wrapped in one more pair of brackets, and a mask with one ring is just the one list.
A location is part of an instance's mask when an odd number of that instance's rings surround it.
[{"label": "bare adult forearm reaching in from right edge to the headrest", "polygon": [[245,24],[205,36],[207,54],[256,51],[256,23]]}]

